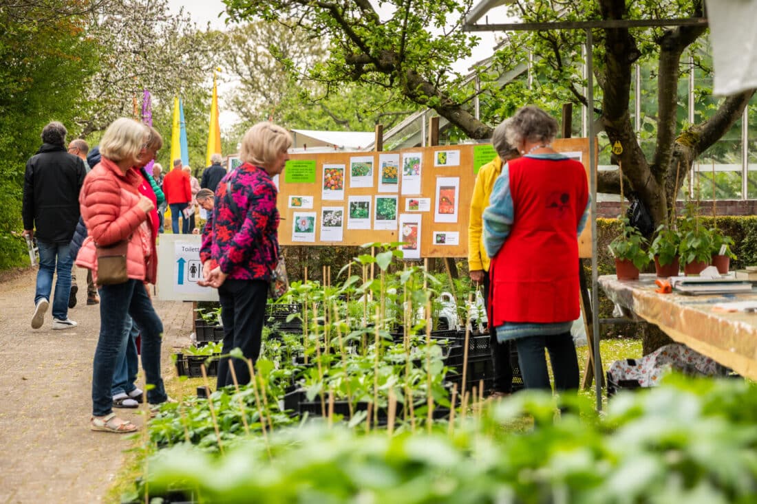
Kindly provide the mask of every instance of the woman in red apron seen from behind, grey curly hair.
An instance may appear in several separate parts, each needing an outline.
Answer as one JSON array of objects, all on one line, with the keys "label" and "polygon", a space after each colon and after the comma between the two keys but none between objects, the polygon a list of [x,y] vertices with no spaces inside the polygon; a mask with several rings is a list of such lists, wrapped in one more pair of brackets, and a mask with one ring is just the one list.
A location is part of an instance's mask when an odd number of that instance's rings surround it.
[{"label": "woman in red apron seen from behind, grey curly hair", "polygon": [[578,360],[570,334],[578,306],[578,235],[589,210],[584,165],[550,146],[557,122],[528,106],[506,125],[509,160],[484,210],[484,244],[492,258],[490,324],[499,341],[515,341],[526,388],[578,388]]}]

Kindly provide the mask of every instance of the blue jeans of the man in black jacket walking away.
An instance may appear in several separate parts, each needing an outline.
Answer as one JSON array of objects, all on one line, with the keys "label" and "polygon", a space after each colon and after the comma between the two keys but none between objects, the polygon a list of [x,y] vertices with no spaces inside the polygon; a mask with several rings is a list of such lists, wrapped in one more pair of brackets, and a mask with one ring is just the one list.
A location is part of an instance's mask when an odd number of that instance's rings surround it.
[{"label": "blue jeans of the man in black jacket walking away", "polygon": [[52,316],[55,319],[68,318],[68,297],[71,294],[71,248],[69,244],[51,243],[37,240],[39,246],[39,272],[37,272],[37,287],[34,293],[34,303],[43,297],[50,300],[53,273],[58,273],[55,282],[55,297],[52,302]]}]

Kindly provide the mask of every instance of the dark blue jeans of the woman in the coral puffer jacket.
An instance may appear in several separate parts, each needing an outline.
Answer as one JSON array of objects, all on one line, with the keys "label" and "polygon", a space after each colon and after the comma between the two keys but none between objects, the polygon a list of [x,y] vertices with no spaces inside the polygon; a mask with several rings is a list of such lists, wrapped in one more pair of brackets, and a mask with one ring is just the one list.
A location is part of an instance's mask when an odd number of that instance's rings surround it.
[{"label": "dark blue jeans of the woman in the coral puffer jacket", "polygon": [[142,369],[145,370],[148,403],[167,400],[160,378],[160,342],[163,322],[155,313],[147,288],[139,280],[100,288],[100,338],[92,366],[92,415],[104,416],[113,410],[111,394],[118,352],[127,334],[126,316],[142,328]]}]

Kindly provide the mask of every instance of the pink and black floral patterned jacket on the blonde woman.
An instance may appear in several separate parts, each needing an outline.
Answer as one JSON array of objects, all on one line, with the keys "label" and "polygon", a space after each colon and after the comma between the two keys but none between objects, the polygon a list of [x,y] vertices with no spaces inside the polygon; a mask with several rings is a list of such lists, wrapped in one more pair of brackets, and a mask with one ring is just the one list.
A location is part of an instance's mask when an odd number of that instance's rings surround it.
[{"label": "pink and black floral patterned jacket on the blonde woman", "polygon": [[266,171],[250,163],[218,184],[210,254],[229,278],[270,281],[279,257],[278,192]]}]

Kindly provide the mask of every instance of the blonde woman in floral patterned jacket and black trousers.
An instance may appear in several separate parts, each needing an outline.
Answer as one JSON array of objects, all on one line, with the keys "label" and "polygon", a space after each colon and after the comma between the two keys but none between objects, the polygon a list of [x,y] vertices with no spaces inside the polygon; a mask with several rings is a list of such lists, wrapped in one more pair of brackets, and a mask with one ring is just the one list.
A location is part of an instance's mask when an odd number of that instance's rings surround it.
[{"label": "blonde woman in floral patterned jacket and black trousers", "polygon": [[[273,176],[282,173],[291,135],[281,126],[257,123],[241,141],[242,164],[223,177],[213,207],[213,241],[206,261],[205,285],[218,289],[223,322],[223,354],[239,348],[253,362],[260,354],[260,334],[271,272],[279,259],[278,190]],[[232,361],[238,383],[250,381],[247,362]],[[229,357],[218,366],[217,387],[233,384]]]}]

